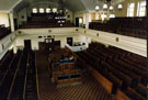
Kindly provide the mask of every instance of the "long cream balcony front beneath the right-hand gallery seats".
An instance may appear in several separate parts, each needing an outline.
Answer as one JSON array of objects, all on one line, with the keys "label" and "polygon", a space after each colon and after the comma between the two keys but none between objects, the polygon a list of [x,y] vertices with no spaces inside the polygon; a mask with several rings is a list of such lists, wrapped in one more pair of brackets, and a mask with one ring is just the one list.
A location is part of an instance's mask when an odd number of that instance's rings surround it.
[{"label": "long cream balcony front beneath the right-hand gallery seats", "polygon": [[[94,30],[80,30],[80,33],[95,40],[96,42],[104,43],[107,45],[112,45],[115,47],[119,47],[122,49],[147,56],[147,40],[114,34],[110,32],[103,31],[94,31]],[[98,35],[99,34],[99,35]],[[118,38],[118,41],[116,41]]]}]

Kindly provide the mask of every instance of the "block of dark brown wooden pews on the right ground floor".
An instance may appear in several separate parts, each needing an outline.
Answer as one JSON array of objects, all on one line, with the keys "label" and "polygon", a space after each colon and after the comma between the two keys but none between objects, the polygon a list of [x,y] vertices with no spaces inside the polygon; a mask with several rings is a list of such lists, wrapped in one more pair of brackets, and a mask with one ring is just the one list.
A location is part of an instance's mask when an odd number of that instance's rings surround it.
[{"label": "block of dark brown wooden pews on the right ground floor", "polygon": [[87,51],[77,55],[81,66],[88,67],[117,100],[146,100],[146,57],[99,43],[90,44]]}]

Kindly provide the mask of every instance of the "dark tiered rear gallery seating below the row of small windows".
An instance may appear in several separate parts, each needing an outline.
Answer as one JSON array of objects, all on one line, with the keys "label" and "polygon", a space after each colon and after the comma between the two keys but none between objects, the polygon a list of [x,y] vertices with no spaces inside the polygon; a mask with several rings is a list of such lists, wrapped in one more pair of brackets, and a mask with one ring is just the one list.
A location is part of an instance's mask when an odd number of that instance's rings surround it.
[{"label": "dark tiered rear gallery seating below the row of small windows", "polygon": [[70,21],[65,16],[56,13],[32,13],[32,16],[24,22],[22,29],[35,27],[71,27],[73,26]]}]

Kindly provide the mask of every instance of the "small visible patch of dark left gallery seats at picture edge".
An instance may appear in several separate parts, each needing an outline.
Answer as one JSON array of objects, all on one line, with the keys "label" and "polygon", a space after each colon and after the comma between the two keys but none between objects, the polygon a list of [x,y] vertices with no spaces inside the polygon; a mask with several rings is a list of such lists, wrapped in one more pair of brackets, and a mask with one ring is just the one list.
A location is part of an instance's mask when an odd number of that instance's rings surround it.
[{"label": "small visible patch of dark left gallery seats at picture edge", "polygon": [[0,40],[11,33],[10,27],[5,27],[3,24],[0,24]]}]

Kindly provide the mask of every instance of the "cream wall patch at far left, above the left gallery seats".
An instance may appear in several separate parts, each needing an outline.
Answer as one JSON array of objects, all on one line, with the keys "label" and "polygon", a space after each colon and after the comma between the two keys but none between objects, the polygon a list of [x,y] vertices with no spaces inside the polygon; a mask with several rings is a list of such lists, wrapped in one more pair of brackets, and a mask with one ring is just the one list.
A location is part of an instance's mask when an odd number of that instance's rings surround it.
[{"label": "cream wall patch at far left, above the left gallery seats", "polygon": [[4,24],[5,26],[10,26],[8,13],[0,13],[0,24]]}]

